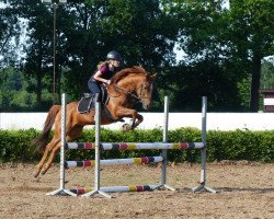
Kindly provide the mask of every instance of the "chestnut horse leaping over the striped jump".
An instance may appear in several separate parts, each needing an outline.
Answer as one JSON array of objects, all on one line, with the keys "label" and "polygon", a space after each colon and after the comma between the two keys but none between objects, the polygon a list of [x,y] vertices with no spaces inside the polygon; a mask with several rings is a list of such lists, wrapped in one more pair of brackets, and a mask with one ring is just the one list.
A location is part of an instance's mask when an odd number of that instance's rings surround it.
[{"label": "chestnut horse leaping over the striped jump", "polygon": [[[110,114],[102,111],[101,124],[107,125],[122,119],[123,117],[132,118],[132,124],[123,126],[124,131],[136,128],[141,122],[142,116],[137,111],[133,110],[135,101],[142,103],[142,108],[148,110],[151,105],[152,82],[156,73],[150,76],[141,67],[132,67],[118,71],[113,77],[113,82],[107,87],[110,100],[105,107]],[[72,141],[80,137],[85,125],[94,125],[94,110],[85,114],[80,114],[77,111],[78,102],[67,104],[67,120],[66,120],[66,141]],[[53,105],[48,112],[44,124],[43,134],[34,139],[33,143],[39,142],[38,148],[44,150],[44,154],[37,164],[37,170],[34,174],[37,177],[42,171],[45,174],[50,168],[54,158],[61,146],[61,106]],[[52,141],[48,142],[48,137],[53,125],[55,124],[55,132]]]}]

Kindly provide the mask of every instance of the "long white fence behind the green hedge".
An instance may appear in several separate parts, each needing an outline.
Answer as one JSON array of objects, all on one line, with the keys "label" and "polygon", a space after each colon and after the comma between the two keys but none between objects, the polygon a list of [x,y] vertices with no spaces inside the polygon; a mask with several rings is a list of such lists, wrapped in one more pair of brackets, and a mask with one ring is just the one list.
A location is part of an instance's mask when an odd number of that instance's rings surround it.
[{"label": "long white fence behind the green hedge", "polygon": [[[139,129],[162,127],[163,113],[141,113],[144,122]],[[0,113],[0,129],[43,129],[47,113]],[[127,118],[125,119],[127,122]],[[119,129],[122,123],[103,126]],[[201,129],[201,113],[170,113],[169,130],[180,127],[195,127]],[[87,126],[92,128],[93,126]],[[207,113],[208,130],[274,130],[274,113]]]}]

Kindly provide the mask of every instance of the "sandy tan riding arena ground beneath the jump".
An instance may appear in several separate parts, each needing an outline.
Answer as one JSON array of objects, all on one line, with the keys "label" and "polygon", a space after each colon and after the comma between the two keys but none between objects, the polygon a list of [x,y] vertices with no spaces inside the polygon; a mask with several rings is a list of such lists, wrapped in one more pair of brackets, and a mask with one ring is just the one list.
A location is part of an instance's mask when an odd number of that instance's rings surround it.
[{"label": "sandy tan riding arena ground beneath the jump", "polygon": [[[219,193],[195,193],[199,165],[171,164],[168,182],[178,188],[115,193],[111,199],[46,196],[59,187],[59,166],[34,180],[34,164],[0,164],[0,218],[274,218],[274,164],[244,161],[207,165],[207,186]],[[93,169],[69,169],[66,187],[93,185]],[[156,165],[103,166],[102,186],[157,184]]]}]

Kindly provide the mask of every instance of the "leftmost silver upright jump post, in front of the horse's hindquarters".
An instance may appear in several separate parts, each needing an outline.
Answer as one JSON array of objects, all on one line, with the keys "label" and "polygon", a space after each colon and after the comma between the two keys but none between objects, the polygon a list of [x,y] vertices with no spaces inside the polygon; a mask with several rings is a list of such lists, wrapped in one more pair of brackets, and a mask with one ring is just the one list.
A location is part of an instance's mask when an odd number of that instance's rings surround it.
[{"label": "leftmost silver upright jump post, in front of the horse's hindquarters", "polygon": [[66,145],[66,115],[67,115],[67,100],[66,94],[61,94],[61,147],[60,147],[60,185],[59,188],[47,193],[46,195],[70,195],[77,196],[77,194],[71,193],[69,189],[65,188],[65,145]]}]

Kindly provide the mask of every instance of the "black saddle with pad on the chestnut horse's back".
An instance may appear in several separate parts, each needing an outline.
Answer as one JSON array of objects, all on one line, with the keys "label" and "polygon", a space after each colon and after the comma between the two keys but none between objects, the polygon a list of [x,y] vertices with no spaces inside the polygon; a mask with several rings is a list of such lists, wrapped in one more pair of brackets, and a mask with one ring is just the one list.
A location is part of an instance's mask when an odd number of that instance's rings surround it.
[{"label": "black saddle with pad on the chestnut horse's back", "polygon": [[[104,106],[109,102],[107,89],[101,85],[101,99],[100,102]],[[91,110],[94,110],[95,106],[95,96],[91,93],[83,93],[81,100],[78,103],[77,111],[80,114],[89,113]]]}]

